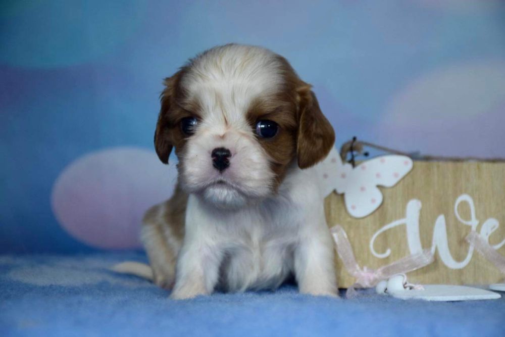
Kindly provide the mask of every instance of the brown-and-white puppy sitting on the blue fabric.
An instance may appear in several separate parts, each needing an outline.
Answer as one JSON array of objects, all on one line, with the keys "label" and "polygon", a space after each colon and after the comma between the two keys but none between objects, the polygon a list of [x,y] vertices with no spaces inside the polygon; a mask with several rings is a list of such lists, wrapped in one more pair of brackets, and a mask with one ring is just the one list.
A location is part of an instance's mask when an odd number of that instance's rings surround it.
[{"label": "brown-and-white puppy sitting on the blue fabric", "polygon": [[[173,197],[147,211],[142,242],[152,276],[173,299],[275,289],[337,295],[334,251],[313,167],[333,128],[311,86],[283,57],[227,44],[164,82],[155,148],[179,159]],[[151,274],[152,273],[152,274]]]}]

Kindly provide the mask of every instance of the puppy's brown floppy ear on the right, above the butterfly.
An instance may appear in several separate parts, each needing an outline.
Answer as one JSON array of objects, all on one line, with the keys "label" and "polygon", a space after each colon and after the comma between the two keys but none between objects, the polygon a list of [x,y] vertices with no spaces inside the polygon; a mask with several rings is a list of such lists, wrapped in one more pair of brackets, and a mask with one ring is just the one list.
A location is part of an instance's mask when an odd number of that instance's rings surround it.
[{"label": "puppy's brown floppy ear on the right, above the butterfly", "polygon": [[324,117],[310,85],[297,90],[300,97],[296,151],[298,167],[309,168],[323,160],[335,142],[335,131]]}]

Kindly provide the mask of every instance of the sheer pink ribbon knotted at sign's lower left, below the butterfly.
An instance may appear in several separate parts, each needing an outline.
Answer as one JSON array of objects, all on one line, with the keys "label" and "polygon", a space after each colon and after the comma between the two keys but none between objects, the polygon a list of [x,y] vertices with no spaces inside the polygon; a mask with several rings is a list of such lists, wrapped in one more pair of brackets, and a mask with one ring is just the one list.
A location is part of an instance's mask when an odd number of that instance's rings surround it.
[{"label": "sheer pink ribbon knotted at sign's lower left, below the butterfly", "polygon": [[350,275],[356,278],[356,282],[347,288],[347,298],[358,295],[356,288],[371,288],[377,285],[377,283],[381,280],[387,279],[396,274],[405,274],[409,271],[422,268],[432,263],[434,260],[431,250],[425,249],[422,253],[406,256],[377,269],[368,267],[363,267],[362,269],[358,265],[358,262],[356,262],[356,258],[352,252],[352,247],[345,230],[341,226],[337,225],[331,228],[331,233],[333,235],[333,239],[335,240],[338,256],[344,263],[345,269]]}]

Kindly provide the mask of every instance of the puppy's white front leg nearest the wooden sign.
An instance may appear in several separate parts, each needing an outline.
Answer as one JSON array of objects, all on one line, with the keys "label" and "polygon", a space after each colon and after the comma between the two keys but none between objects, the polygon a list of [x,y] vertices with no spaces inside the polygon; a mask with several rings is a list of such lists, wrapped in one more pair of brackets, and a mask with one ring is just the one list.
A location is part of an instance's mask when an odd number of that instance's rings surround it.
[{"label": "puppy's white front leg nearest the wooden sign", "polygon": [[337,296],[334,251],[325,224],[317,233],[301,238],[294,251],[294,269],[300,293]]}]

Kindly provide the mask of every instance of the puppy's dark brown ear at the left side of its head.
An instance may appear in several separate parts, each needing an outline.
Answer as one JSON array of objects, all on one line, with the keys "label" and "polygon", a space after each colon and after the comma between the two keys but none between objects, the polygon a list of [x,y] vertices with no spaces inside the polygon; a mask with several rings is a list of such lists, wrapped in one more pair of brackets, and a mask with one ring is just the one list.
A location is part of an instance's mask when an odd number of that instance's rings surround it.
[{"label": "puppy's dark brown ear at the left side of its head", "polygon": [[172,77],[168,77],[163,81],[165,89],[160,95],[161,109],[158,115],[158,122],[155,131],[155,149],[156,154],[164,164],[168,164],[168,157],[172,152],[172,142],[170,139],[170,128],[168,121],[168,114],[170,113],[172,100],[175,91],[176,73]]}]

